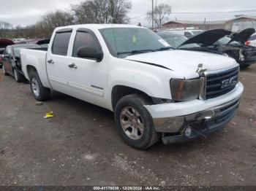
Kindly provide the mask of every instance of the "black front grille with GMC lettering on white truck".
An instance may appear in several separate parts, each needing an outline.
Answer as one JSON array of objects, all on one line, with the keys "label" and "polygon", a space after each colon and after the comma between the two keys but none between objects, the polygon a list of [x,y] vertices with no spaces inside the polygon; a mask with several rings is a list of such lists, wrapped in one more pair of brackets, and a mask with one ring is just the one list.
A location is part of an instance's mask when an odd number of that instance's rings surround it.
[{"label": "black front grille with GMC lettering on white truck", "polygon": [[239,67],[206,74],[206,99],[217,98],[232,91],[238,83]]}]

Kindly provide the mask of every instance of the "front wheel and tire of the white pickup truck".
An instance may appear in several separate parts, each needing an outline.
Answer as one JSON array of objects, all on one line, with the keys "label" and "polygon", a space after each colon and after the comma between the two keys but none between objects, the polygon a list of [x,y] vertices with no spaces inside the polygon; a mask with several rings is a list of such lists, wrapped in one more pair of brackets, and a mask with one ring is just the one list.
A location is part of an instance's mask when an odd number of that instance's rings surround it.
[{"label": "front wheel and tire of the white pickup truck", "polygon": [[[160,134],[154,129],[151,114],[144,107],[146,104],[149,102],[139,94],[127,95],[116,104],[115,121],[118,132],[129,146],[136,149],[147,149],[160,138]],[[133,130],[135,133],[132,133]]]}]

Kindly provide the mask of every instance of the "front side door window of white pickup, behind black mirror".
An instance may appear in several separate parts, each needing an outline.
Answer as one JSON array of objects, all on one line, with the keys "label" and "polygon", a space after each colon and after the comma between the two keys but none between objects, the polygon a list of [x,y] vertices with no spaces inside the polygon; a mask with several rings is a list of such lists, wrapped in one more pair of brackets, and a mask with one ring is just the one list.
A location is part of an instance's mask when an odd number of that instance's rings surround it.
[{"label": "front side door window of white pickup, behind black mirror", "polygon": [[78,58],[78,50],[80,47],[94,47],[99,51],[99,43],[97,39],[87,31],[78,31],[75,36],[72,56]]}]

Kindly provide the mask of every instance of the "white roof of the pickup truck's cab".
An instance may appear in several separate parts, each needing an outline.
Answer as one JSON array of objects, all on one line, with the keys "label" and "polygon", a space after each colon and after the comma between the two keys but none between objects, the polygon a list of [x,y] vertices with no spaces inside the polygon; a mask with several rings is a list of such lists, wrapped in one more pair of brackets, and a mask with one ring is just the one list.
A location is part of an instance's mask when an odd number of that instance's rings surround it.
[{"label": "white roof of the pickup truck's cab", "polygon": [[89,28],[89,29],[102,29],[102,28],[144,28],[135,25],[125,25],[125,24],[83,24],[83,25],[73,25],[73,26],[61,26],[57,27],[56,30],[64,28]]}]

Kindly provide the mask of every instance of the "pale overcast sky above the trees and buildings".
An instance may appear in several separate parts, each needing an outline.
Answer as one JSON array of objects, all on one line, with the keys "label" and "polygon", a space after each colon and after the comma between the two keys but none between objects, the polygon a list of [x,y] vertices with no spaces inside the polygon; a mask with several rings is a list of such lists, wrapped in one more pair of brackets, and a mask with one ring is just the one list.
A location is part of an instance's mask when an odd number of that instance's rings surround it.
[{"label": "pale overcast sky above the trees and buildings", "polygon": [[[77,4],[84,0],[0,0],[0,20],[14,26],[28,26],[36,23],[45,12],[54,9],[68,9],[70,4]],[[148,26],[146,12],[151,9],[151,0],[131,0],[132,11],[129,12],[131,23],[142,23]],[[156,1],[156,0],[154,0]],[[179,14],[178,12],[226,12],[246,9],[256,9],[255,0],[157,0],[157,4],[166,3],[173,7],[171,20],[225,20],[238,13],[225,14]],[[255,15],[256,12],[247,12]],[[135,17],[135,18],[134,18]]]}]

